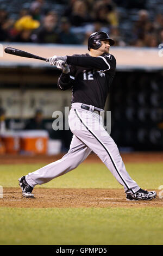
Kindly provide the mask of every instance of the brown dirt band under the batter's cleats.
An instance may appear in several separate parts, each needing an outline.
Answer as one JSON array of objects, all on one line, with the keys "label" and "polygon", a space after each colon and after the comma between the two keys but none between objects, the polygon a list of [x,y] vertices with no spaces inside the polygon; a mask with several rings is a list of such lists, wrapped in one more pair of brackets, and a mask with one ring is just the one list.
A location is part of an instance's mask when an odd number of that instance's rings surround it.
[{"label": "brown dirt band under the batter's cleats", "polygon": [[22,197],[20,188],[4,188],[0,206],[12,208],[163,207],[163,200],[158,196],[151,201],[128,202],[122,189],[35,188],[34,194],[34,199],[28,199]]}]

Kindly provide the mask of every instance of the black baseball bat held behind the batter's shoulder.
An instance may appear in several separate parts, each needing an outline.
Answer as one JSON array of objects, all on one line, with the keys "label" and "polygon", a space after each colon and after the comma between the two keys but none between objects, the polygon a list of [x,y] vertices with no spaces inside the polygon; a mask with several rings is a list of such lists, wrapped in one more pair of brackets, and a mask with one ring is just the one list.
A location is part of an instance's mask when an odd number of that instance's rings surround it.
[{"label": "black baseball bat held behind the batter's shoulder", "polygon": [[8,53],[8,54],[13,54],[13,55],[16,55],[16,56],[20,56],[20,57],[26,57],[26,58],[41,59],[41,60],[46,60],[47,59],[47,58],[43,58],[43,57],[37,56],[35,54],[25,52],[25,51],[22,51],[22,50],[19,50],[19,49],[11,48],[11,47],[5,47],[4,52]]}]

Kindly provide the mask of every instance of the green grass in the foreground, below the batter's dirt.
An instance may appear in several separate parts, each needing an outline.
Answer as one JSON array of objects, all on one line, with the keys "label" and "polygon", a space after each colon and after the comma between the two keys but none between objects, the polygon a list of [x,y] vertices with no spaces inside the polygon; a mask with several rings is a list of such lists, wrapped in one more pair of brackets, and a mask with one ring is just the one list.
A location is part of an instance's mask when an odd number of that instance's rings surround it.
[{"label": "green grass in the foreground, below the batter's dirt", "polygon": [[0,208],[1,245],[163,245],[163,209]]}]

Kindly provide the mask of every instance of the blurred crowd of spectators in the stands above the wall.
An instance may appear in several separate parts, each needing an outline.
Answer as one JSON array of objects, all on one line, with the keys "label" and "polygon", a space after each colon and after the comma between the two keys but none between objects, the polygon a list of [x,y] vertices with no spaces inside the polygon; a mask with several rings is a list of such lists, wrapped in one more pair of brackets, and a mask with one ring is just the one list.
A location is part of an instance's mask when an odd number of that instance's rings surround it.
[{"label": "blurred crowd of spectators in the stands above the wall", "polygon": [[[1,2],[5,4],[5,0]],[[57,5],[62,3],[65,2],[58,1]],[[56,8],[58,13],[47,13],[47,7],[55,10],[55,2],[35,0],[29,9],[20,8],[17,14],[0,9],[0,41],[87,44],[91,33],[105,31],[114,37],[117,46],[155,47],[162,43],[163,33],[161,2],[155,4],[159,5],[152,9],[152,1],[147,5],[145,0],[70,0],[67,7],[64,4]],[[11,10],[12,2],[10,5]],[[14,19],[18,16],[16,22],[10,14]],[[61,22],[63,17],[67,17],[67,24]]]}]

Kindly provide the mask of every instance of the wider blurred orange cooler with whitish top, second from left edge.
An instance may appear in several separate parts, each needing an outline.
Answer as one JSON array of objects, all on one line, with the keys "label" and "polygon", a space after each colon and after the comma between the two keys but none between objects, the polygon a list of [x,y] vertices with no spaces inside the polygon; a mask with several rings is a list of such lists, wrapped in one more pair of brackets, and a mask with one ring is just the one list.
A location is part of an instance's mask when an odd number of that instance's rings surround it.
[{"label": "wider blurred orange cooler with whitish top, second from left edge", "polygon": [[46,154],[48,132],[44,130],[22,131],[20,133],[21,153]]}]

